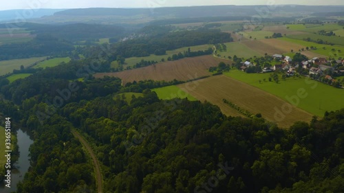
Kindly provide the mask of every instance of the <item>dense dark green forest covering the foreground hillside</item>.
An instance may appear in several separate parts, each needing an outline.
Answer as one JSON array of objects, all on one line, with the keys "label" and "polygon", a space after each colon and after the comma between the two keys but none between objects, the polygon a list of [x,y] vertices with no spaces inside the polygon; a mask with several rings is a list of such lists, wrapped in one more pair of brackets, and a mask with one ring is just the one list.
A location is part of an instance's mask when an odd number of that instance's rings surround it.
[{"label": "dense dark green forest covering the foreground hillside", "polygon": [[[78,92],[72,92],[63,106],[49,106],[58,94],[51,91],[52,85],[63,90],[68,84],[63,68],[43,70],[1,88],[3,95],[14,96],[19,111],[5,101],[1,106],[8,108],[1,109],[11,111],[35,133],[32,168],[19,192],[94,189],[92,167],[72,137],[72,128],[89,136],[109,192],[343,190],[344,110],[282,130],[259,115],[226,117],[208,102],[159,100],[148,89],[128,104],[121,95],[114,98],[125,91],[118,78],[75,82]],[[61,73],[45,79],[52,71]],[[31,89],[17,98],[6,93],[6,87],[14,93]]]}]

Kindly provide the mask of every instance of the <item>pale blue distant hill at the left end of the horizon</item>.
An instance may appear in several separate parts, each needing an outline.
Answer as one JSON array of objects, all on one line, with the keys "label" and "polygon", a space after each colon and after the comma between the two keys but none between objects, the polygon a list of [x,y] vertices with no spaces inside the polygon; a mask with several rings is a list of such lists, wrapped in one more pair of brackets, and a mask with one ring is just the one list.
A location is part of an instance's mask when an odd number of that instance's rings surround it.
[{"label": "pale blue distant hill at the left end of the horizon", "polygon": [[[12,21],[18,19],[21,16],[21,19],[33,19],[40,18],[41,16],[50,16],[55,12],[63,11],[62,9],[39,9],[39,10],[5,10],[0,11],[0,22],[1,21]],[[33,14],[32,14],[33,13]],[[25,16],[29,16],[25,18]]]}]

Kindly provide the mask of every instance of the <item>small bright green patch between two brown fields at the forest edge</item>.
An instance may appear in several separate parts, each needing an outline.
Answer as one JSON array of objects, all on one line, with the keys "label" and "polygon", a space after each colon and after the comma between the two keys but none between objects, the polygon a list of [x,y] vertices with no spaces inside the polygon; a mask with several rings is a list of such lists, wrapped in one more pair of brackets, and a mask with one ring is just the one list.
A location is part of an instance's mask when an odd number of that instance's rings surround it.
[{"label": "small bright green patch between two brown fields at the forest edge", "polygon": [[158,97],[162,100],[169,100],[172,98],[188,98],[188,100],[197,101],[197,99],[194,98],[192,95],[189,95],[189,93],[184,92],[182,89],[174,85],[169,87],[152,89],[152,91],[155,91]]}]

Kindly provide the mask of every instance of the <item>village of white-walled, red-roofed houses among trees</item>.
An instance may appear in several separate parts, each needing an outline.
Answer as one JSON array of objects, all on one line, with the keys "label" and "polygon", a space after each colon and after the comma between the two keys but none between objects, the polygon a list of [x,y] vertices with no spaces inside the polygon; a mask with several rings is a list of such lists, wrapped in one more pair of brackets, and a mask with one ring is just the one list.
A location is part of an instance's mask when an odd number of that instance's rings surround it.
[{"label": "village of white-walled, red-roofed houses among trees", "polygon": [[[254,58],[252,62],[250,59],[242,62],[240,61],[241,58],[239,58],[235,66],[247,73],[280,72],[287,77],[295,75],[308,76],[314,80],[338,88],[342,88],[342,84],[344,83],[344,79],[338,79],[344,76],[344,60],[327,60],[323,57],[308,59],[299,53],[295,54],[293,58],[281,54],[274,54],[272,56],[266,56],[264,59],[262,58],[264,57]],[[275,65],[266,63],[267,60],[272,61]]]}]

